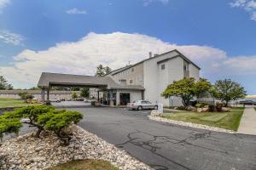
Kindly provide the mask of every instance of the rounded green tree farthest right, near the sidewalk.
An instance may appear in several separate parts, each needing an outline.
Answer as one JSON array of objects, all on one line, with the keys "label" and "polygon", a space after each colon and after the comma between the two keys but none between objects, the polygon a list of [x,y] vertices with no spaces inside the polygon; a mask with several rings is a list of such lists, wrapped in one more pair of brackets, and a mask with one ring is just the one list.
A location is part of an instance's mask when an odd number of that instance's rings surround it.
[{"label": "rounded green tree farthest right, near the sidewalk", "polygon": [[214,97],[224,102],[225,107],[231,100],[245,98],[247,92],[238,83],[230,79],[218,80],[214,84]]}]

